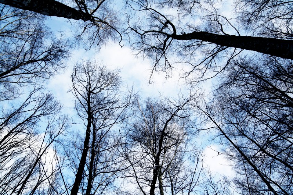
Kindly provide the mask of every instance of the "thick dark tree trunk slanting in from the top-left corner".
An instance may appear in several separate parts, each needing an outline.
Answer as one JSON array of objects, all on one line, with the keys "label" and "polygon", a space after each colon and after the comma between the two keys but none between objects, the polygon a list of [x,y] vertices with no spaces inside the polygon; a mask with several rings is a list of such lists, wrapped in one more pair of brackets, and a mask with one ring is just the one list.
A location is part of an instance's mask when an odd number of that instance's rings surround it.
[{"label": "thick dark tree trunk slanting in from the top-left corner", "polygon": [[88,21],[92,16],[54,0],[0,0],[0,3],[46,16]]}]

